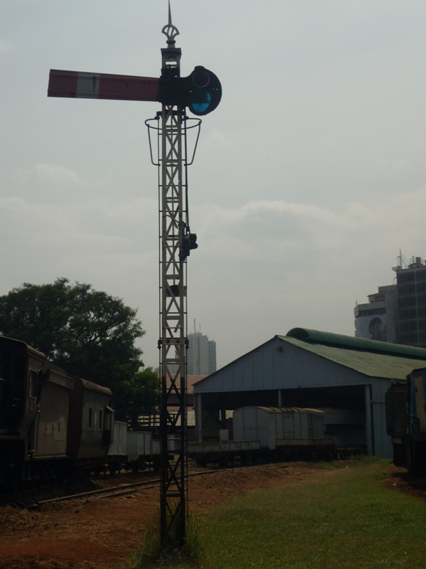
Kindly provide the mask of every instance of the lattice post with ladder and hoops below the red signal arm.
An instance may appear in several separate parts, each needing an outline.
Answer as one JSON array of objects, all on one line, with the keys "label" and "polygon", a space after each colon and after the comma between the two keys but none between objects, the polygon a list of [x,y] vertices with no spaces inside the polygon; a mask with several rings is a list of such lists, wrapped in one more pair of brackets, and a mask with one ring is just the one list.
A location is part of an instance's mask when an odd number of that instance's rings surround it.
[{"label": "lattice post with ladder and hoops below the red signal arm", "polygon": [[[201,120],[188,118],[180,105],[163,105],[146,121],[151,161],[158,166],[161,539],[165,543],[173,532],[180,546],[187,515],[187,167],[194,161],[200,125]],[[194,128],[195,146],[188,160],[187,131]],[[157,134],[156,160],[151,129]],[[170,395],[175,395],[175,402],[170,403]],[[169,412],[172,406],[178,413]]]}]

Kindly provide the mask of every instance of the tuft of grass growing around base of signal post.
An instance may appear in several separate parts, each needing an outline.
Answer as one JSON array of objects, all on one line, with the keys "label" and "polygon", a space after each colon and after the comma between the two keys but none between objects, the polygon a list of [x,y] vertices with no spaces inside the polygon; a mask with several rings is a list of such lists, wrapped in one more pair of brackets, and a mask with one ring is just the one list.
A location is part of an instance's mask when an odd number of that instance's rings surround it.
[{"label": "tuft of grass growing around base of signal post", "polygon": [[189,568],[203,566],[202,527],[195,514],[186,518],[185,544],[179,546],[178,524],[171,531],[168,542],[160,542],[160,512],[148,525],[142,548],[131,555],[124,569],[144,569],[155,567]]}]

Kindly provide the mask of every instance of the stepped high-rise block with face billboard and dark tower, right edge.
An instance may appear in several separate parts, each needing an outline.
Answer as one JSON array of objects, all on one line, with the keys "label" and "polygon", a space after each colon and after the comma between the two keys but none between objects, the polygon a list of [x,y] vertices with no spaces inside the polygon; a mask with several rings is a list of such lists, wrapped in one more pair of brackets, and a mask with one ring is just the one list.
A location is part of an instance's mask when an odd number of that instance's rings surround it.
[{"label": "stepped high-rise block with face billboard and dark tower, right edge", "polygon": [[426,348],[426,262],[398,257],[396,284],[378,287],[356,304],[355,336]]}]

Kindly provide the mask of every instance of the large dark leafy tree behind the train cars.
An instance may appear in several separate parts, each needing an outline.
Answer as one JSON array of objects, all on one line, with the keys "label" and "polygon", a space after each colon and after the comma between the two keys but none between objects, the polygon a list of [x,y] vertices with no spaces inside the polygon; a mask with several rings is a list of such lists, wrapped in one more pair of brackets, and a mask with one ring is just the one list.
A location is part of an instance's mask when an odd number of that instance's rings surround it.
[{"label": "large dark leafy tree behind the train cars", "polygon": [[42,351],[68,373],[109,387],[123,413],[158,404],[158,378],[143,369],[142,351],[134,345],[145,334],[136,310],[91,285],[70,285],[66,278],[53,285],[25,282],[0,297],[0,334]]}]

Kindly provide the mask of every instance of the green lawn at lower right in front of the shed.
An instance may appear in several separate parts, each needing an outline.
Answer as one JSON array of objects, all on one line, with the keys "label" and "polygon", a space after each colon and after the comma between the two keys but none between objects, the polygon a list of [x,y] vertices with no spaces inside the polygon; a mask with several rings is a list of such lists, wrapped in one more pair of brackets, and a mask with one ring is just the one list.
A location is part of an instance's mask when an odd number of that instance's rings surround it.
[{"label": "green lawn at lower right in front of the shed", "polygon": [[197,566],[424,569],[426,505],[382,486],[387,464],[320,467],[305,481],[205,511]]}]

